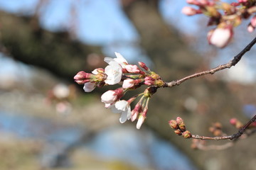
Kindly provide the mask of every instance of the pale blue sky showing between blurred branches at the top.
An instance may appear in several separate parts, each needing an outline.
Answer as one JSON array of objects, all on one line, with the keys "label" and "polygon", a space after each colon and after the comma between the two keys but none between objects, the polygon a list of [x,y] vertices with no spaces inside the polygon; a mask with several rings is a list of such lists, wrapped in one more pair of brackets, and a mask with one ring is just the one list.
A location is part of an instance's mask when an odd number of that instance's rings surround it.
[{"label": "pale blue sky showing between blurred branches at the top", "polygon": [[[23,12],[29,14],[34,12],[37,1],[38,0],[0,1],[0,9],[12,13]],[[75,30],[78,39],[90,45],[102,46],[105,55],[114,57],[114,52],[117,51],[124,55],[129,62],[137,62],[139,59],[147,64],[150,63],[146,59],[143,50],[137,46],[139,35],[122,11],[119,0],[49,1],[48,6],[41,10],[41,25],[44,28],[52,31],[70,29],[70,22],[73,22],[76,23]],[[70,16],[70,6],[75,8],[75,17]],[[197,26],[198,19],[204,18],[204,16],[185,16],[181,13],[183,6],[188,6],[186,0],[161,0],[159,11],[166,20],[166,23],[172,24],[181,33],[196,35],[199,30],[205,29],[202,27],[198,28]],[[202,23],[202,26],[204,25],[206,25],[206,23]],[[250,38],[252,35],[247,33],[246,36]],[[206,38],[205,42],[207,43]],[[206,47],[208,46],[206,45]],[[230,54],[230,49],[231,52],[234,52],[233,54]],[[227,49],[222,50],[222,52],[220,52],[221,57],[213,62],[213,67],[228,62],[231,59],[230,57],[239,52],[236,52],[236,50],[242,50],[242,48],[227,47]],[[245,59],[245,62],[250,63],[250,61],[248,62],[246,60],[247,59]],[[238,64],[238,67],[239,65],[240,64]],[[245,65],[243,64],[242,67],[248,69]],[[252,70],[252,68],[254,67],[250,66],[250,70]],[[248,72],[248,70],[245,72]],[[250,77],[255,77],[255,75],[251,75]]]}]

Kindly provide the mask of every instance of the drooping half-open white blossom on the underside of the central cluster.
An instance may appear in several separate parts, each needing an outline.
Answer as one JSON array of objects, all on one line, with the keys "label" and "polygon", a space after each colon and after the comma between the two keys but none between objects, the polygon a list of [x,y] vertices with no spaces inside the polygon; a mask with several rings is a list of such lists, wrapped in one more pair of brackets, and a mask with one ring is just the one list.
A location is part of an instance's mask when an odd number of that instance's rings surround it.
[{"label": "drooping half-open white blossom on the underside of the central cluster", "polygon": [[111,110],[113,113],[121,113],[121,117],[119,118],[120,123],[125,123],[132,115],[130,103],[124,100],[114,103]]}]

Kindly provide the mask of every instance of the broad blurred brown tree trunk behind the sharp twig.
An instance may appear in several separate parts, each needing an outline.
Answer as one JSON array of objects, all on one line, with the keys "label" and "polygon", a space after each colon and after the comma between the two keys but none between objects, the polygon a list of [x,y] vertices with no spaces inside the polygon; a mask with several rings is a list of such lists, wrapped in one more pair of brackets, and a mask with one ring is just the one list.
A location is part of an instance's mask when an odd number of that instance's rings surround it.
[{"label": "broad blurred brown tree trunk behind the sharp twig", "polygon": [[[147,0],[129,1],[123,4],[124,12],[139,32],[140,45],[156,64],[154,71],[159,73],[165,81],[181,79],[193,74],[202,67],[202,58],[196,52],[189,50],[177,30],[167,26],[156,4],[157,1]],[[185,107],[185,102],[191,98],[197,103],[193,111]],[[219,152],[218,157],[208,152],[196,152],[190,148],[189,140],[174,134],[169,128],[168,120],[181,116],[192,133],[210,136],[209,126],[211,123],[220,121],[228,127],[225,130],[231,134],[235,130],[228,124],[229,119],[243,118],[240,108],[238,100],[234,94],[231,94],[226,84],[215,80],[214,75],[210,75],[189,80],[171,89],[159,89],[149,103],[146,123],[158,134],[174,142],[201,169],[208,169],[207,162],[210,161],[220,162],[220,169],[236,169],[242,161],[234,162],[233,150]],[[216,145],[220,143],[222,142],[215,142]],[[222,160],[224,158],[225,162]]]}]

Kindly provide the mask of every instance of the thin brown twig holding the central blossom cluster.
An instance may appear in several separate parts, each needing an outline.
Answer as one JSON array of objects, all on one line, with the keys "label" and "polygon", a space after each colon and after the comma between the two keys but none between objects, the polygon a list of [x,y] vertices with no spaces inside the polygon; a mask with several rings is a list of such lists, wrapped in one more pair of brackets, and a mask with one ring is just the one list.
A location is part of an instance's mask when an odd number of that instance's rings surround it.
[{"label": "thin brown twig holding the central blossom cluster", "polygon": [[250,42],[238,55],[236,55],[233,58],[233,60],[230,60],[230,62],[228,62],[227,64],[222,64],[222,65],[219,65],[218,67],[215,67],[213,69],[210,69],[210,70],[207,70],[207,71],[204,71],[204,72],[199,72],[199,73],[196,73],[196,74],[192,74],[188,77],[184,77],[183,79],[178,79],[176,81],[171,81],[171,82],[165,82],[163,87],[177,86],[177,85],[180,85],[181,83],[183,83],[184,81],[186,81],[188,79],[201,77],[201,76],[204,76],[206,74],[214,74],[215,72],[218,72],[220,70],[233,67],[233,66],[235,66],[235,64],[238,64],[238,62],[241,60],[242,56],[245,55],[246,52],[250,51],[251,47],[253,45],[255,45],[255,43],[256,43],[256,38],[254,38],[252,40],[252,42]]}]

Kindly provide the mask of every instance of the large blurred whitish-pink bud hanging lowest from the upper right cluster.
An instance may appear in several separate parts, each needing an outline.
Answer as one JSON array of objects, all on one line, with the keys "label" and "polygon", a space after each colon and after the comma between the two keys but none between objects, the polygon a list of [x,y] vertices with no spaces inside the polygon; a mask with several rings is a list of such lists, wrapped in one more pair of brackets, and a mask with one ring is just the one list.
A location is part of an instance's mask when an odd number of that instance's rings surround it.
[{"label": "large blurred whitish-pink bud hanging lowest from the upper right cluster", "polygon": [[216,28],[215,30],[210,30],[208,33],[208,42],[216,47],[223,48],[228,45],[228,42],[233,37],[233,30],[231,26],[226,28]]}]

